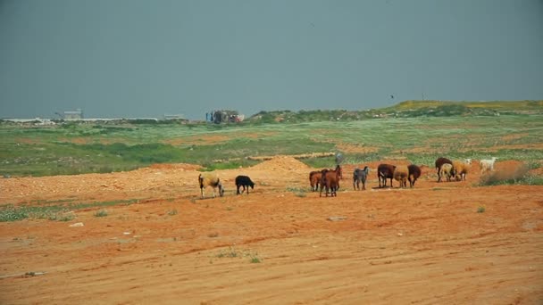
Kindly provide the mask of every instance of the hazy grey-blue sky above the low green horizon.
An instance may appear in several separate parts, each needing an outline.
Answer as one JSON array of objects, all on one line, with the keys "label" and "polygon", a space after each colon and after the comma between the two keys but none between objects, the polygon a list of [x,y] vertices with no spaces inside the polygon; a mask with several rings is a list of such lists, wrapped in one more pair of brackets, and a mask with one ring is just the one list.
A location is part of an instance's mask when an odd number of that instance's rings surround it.
[{"label": "hazy grey-blue sky above the low green horizon", "polygon": [[204,119],[422,95],[543,99],[543,0],[0,0],[0,118]]}]

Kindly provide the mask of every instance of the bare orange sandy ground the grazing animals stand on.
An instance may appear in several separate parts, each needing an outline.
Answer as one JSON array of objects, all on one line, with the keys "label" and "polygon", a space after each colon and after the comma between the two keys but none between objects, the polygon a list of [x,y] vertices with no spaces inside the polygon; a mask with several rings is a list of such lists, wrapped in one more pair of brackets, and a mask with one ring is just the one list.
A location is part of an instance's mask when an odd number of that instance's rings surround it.
[{"label": "bare orange sandy ground the grazing animals stand on", "polygon": [[378,163],[365,191],[345,166],[335,198],[297,191],[313,169],[288,157],[218,171],[224,197],[203,200],[188,164],[1,179],[4,203],[139,202],[0,223],[0,303],[543,303],[543,186],[476,186],[475,163],[467,181],[423,167],[413,189],[379,189]]}]

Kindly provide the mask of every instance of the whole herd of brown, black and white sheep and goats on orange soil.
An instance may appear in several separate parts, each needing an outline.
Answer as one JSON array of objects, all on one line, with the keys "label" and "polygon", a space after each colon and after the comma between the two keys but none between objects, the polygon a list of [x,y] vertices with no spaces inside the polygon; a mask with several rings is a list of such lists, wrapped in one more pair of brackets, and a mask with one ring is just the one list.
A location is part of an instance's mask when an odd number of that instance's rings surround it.
[{"label": "whole herd of brown, black and white sheep and goats on orange soil", "polygon": [[[497,160],[496,157],[493,157],[489,160],[480,160],[480,171],[481,174],[487,171],[494,170],[494,163]],[[436,171],[438,174],[438,182],[441,182],[442,179],[447,179],[447,181],[456,181],[465,180],[466,175],[470,171],[472,160],[464,159],[464,161],[451,161],[444,157],[439,157],[436,162]],[[379,179],[379,187],[386,187],[387,180],[390,180],[390,187],[392,187],[392,179],[395,179],[399,182],[399,187],[407,187],[407,181],[409,181],[409,186],[413,187],[415,182],[419,177],[421,177],[421,168],[417,165],[392,165],[387,163],[381,163],[377,167],[377,177]],[[360,185],[362,184],[362,190],[366,189],[366,179],[370,173],[370,169],[367,166],[364,166],[363,169],[356,168],[353,171],[353,188],[355,190],[360,190]],[[322,169],[314,170],[309,173],[309,184],[313,192],[320,190],[320,196],[322,196],[322,190],[325,192],[325,196],[334,197],[337,196],[337,191],[339,189],[339,180],[343,178],[343,169],[339,165],[335,169]],[[215,189],[218,189],[219,195],[224,194],[224,187],[222,186],[221,179],[215,173],[205,173],[198,176],[198,183],[200,185],[200,192],[202,198],[204,198],[204,190],[207,186],[213,188],[213,197],[215,197]],[[255,183],[247,176],[238,176],[235,179],[236,184],[236,194],[249,194],[249,187],[251,189],[255,188]],[[241,192],[240,192],[241,189]]]}]

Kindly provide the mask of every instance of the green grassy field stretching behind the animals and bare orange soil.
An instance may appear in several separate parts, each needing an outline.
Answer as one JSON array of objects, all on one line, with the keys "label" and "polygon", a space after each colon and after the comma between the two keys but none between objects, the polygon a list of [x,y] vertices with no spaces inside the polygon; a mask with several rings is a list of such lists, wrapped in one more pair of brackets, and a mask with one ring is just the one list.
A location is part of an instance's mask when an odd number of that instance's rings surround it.
[{"label": "green grassy field stretching behind the animals and bare orange soil", "polygon": [[[206,169],[249,166],[249,156],[341,152],[346,163],[439,156],[543,161],[543,115],[453,116],[289,124],[0,125],[0,174],[48,176],[185,162]],[[356,148],[372,148],[356,152]],[[333,157],[302,160],[331,166]]]}]

